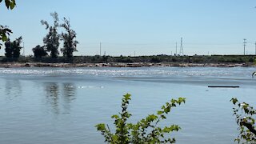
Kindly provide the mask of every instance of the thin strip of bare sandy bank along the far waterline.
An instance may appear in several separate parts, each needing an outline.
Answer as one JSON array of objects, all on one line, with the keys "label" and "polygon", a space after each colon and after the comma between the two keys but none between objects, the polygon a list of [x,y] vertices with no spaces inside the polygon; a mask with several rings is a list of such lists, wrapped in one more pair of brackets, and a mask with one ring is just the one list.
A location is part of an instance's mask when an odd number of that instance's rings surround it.
[{"label": "thin strip of bare sandy bank along the far waterline", "polygon": [[235,66],[254,66],[245,63],[41,63],[41,62],[26,62],[26,63],[0,63],[0,67],[148,67],[148,66],[180,66],[180,67],[203,67],[203,66],[218,66],[218,67],[235,67]]}]

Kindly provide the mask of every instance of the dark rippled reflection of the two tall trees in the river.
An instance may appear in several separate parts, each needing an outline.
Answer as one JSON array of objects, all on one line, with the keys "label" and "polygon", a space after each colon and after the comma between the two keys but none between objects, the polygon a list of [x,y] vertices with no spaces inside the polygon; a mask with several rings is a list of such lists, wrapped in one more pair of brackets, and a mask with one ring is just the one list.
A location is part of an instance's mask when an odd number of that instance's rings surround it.
[{"label": "dark rippled reflection of the two tall trees in the river", "polygon": [[46,82],[46,102],[50,104],[54,114],[69,114],[71,103],[75,100],[73,83]]}]

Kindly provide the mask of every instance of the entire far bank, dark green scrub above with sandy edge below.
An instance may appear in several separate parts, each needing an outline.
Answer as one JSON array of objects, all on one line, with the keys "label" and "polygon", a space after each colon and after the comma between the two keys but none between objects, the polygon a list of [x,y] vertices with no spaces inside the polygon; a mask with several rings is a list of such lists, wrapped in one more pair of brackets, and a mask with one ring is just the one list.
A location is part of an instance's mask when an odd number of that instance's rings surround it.
[{"label": "entire far bank, dark green scrub above with sandy edge below", "polygon": [[75,56],[73,58],[5,58],[0,57],[0,67],[236,67],[256,66],[256,55],[194,55],[170,56],[152,55],[138,57],[113,56]]}]

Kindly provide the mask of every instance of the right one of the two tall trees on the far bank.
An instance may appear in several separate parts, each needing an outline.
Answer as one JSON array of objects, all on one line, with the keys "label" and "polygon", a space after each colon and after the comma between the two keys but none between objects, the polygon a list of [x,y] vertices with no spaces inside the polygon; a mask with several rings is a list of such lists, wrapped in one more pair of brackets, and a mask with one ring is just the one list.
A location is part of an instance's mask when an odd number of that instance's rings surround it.
[{"label": "right one of the two tall trees on the far bank", "polygon": [[61,26],[66,30],[66,33],[62,32],[62,40],[64,41],[64,45],[61,50],[64,57],[71,58],[73,57],[73,52],[78,51],[78,41],[75,40],[77,34],[71,29],[70,20],[64,18],[63,21],[64,23]]}]

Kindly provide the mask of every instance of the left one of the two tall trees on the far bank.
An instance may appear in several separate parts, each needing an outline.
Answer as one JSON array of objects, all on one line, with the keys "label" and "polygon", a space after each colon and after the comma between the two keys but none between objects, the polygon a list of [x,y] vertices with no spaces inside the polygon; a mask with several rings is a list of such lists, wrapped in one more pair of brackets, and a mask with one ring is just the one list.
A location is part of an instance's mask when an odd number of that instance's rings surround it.
[{"label": "left one of the two tall trees on the far bank", "polygon": [[50,51],[50,56],[52,58],[58,57],[58,46],[59,46],[59,39],[60,34],[58,34],[58,14],[56,12],[50,13],[50,16],[54,18],[54,25],[50,26],[48,22],[41,21],[42,25],[46,26],[46,30],[49,30],[48,34],[46,34],[46,37],[43,38],[43,42],[46,46],[46,50]]}]

